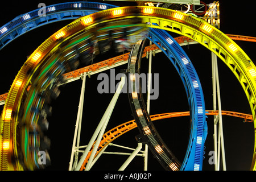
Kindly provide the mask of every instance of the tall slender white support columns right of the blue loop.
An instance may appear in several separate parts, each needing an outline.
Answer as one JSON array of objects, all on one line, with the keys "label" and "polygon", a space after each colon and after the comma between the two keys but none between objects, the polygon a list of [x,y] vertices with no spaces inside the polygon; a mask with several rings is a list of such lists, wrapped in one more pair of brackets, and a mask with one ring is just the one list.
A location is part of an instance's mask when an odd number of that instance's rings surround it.
[{"label": "tall slender white support columns right of the blue loop", "polygon": [[[226,159],[225,159],[225,147],[224,147],[224,135],[222,126],[222,113],[221,113],[221,97],[220,97],[220,83],[218,77],[218,64],[217,56],[212,52],[212,79],[213,79],[213,110],[217,110],[216,103],[216,88],[217,88],[217,101],[218,101],[218,117],[214,116],[214,162],[215,170],[220,170],[220,153],[222,157],[222,167],[226,171]],[[217,130],[218,125],[218,130]],[[218,140],[217,140],[218,135]],[[217,156],[216,156],[217,154]]]}]

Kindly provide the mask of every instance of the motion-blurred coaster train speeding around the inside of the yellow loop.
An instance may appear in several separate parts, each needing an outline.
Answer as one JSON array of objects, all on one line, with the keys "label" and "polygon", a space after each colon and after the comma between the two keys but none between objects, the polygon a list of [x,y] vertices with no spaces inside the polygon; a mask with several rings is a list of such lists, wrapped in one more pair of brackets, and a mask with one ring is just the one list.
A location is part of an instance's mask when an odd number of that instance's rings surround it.
[{"label": "motion-blurred coaster train speeding around the inside of the yellow loop", "polygon": [[[126,35],[128,37],[136,34],[135,32],[141,32],[143,30],[143,28],[137,25],[132,25],[130,20],[127,20],[126,23],[127,25],[123,27],[117,27],[118,23],[115,22],[110,24],[110,27],[104,27],[105,25],[103,27],[99,26],[97,30],[81,31],[80,34],[69,35],[68,38],[63,38],[64,40],[56,39],[55,47],[53,47],[46,56],[42,57],[38,64],[30,69],[32,71],[26,73],[26,78],[24,78],[26,83],[23,84],[23,94],[18,101],[18,109],[20,110],[16,110],[16,113],[19,114],[15,115],[14,118],[15,121],[19,121],[17,132],[20,133],[18,136],[22,138],[22,141],[27,141],[29,137],[38,138],[40,135],[40,127],[38,125],[40,124],[39,121],[44,119],[42,111],[44,111],[44,113],[50,113],[48,111],[49,105],[46,101],[49,101],[49,97],[52,97],[52,93],[56,92],[53,92],[53,89],[57,89],[57,85],[63,81],[61,80],[61,75],[63,75],[66,69],[70,68],[69,62],[72,60],[75,63],[78,59],[78,57],[76,57],[77,52],[74,51],[75,48],[79,49],[82,47],[85,50],[89,50],[93,42],[96,42],[95,39],[97,39],[97,41],[105,39],[104,36],[98,36],[97,32],[100,32],[99,34],[105,34],[105,32],[108,32],[108,29],[111,28],[115,29],[113,38],[120,37],[124,33],[122,31],[123,28],[126,28]],[[56,33],[54,35],[58,34]],[[90,53],[92,52],[93,51]],[[32,82],[32,85],[29,85],[30,82]],[[57,82],[59,82],[59,84],[57,84]],[[28,87],[30,88],[29,92],[27,92]],[[39,131],[34,133],[33,131],[38,129],[38,127]],[[16,162],[19,168],[35,169],[42,167],[38,165],[38,156],[36,155],[38,151],[42,150],[39,143],[42,142],[40,141],[36,144],[26,144],[26,142],[24,142],[24,144],[19,143],[20,146],[22,146],[23,153],[23,156],[16,158],[16,160],[19,160]],[[34,148],[35,151],[31,153],[30,148]],[[20,154],[20,152],[17,152],[17,154]],[[19,165],[19,162],[22,166]]]}]

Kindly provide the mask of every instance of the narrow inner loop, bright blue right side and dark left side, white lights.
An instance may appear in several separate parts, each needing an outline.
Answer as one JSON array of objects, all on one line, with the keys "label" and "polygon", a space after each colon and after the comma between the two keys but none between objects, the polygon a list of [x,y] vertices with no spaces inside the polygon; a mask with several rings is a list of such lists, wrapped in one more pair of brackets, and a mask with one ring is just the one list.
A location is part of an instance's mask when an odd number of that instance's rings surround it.
[{"label": "narrow inner loop, bright blue right side and dark left side, white lights", "polygon": [[[133,115],[137,118],[136,121],[138,128],[141,133],[147,137],[147,141],[151,144],[151,150],[155,155],[159,155],[158,151],[161,151],[163,154],[166,153],[169,156],[169,159],[175,160],[174,163],[177,168],[171,168],[174,164],[170,165],[170,160],[162,163],[164,167],[167,167],[167,169],[201,170],[203,164],[204,142],[207,137],[207,122],[205,121],[204,96],[199,77],[197,76],[195,68],[193,68],[188,56],[166,31],[150,28],[148,39],[157,45],[171,60],[183,81],[185,91],[187,93],[189,108],[191,110],[191,134],[189,136],[188,149],[182,166],[177,162],[175,156],[169,152],[170,150],[165,149],[167,146],[165,146],[163,142],[160,142],[159,144],[159,146],[162,147],[162,150],[160,150],[159,147],[156,147],[158,142],[155,142],[154,139],[157,138],[156,140],[158,141],[162,141],[162,139],[160,139],[160,135],[158,135],[154,129],[154,125],[146,111],[146,106],[141,93],[138,93],[140,85],[133,84],[139,82],[137,75],[130,75],[135,73],[139,74],[139,68],[141,67],[139,61],[141,57],[138,57],[138,55],[139,51],[143,52],[143,46],[139,43],[135,44],[128,63],[128,77],[130,78],[131,85],[133,85],[133,90],[131,90],[131,93],[129,94],[129,100],[133,110]],[[158,43],[160,43],[160,46]],[[139,50],[140,48],[141,50]],[[148,137],[148,135],[150,135],[150,137]],[[153,144],[153,142],[155,144]],[[158,150],[156,150],[156,148]],[[166,152],[164,152],[165,150]],[[158,156],[158,159],[160,158],[167,159],[166,156]],[[162,162],[162,160],[160,160],[160,162]]]}]

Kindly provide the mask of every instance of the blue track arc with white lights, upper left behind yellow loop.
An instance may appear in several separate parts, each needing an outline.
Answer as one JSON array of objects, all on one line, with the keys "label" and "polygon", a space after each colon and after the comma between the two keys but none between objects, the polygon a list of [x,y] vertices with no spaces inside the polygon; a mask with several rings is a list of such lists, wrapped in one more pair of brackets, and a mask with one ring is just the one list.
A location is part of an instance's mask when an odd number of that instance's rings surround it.
[{"label": "blue track arc with white lights, upper left behind yellow loop", "polygon": [[19,15],[11,20],[11,22],[0,27],[0,49],[7,46],[7,44],[20,35],[40,26],[60,20],[76,19],[114,7],[117,6],[97,2],[67,2],[46,6],[44,15],[39,14],[43,13],[42,8]]}]

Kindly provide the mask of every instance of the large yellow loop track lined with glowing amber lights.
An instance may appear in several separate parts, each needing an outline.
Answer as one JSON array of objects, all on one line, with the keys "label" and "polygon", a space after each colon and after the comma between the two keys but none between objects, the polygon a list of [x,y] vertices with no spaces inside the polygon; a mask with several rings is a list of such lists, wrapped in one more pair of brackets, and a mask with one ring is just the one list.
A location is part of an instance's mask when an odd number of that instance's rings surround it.
[{"label": "large yellow loop track lined with glowing amber lights", "polygon": [[[236,43],[234,43],[231,39],[229,39],[227,36],[222,34],[222,32],[210,26],[203,20],[196,19],[192,16],[185,15],[182,13],[177,13],[176,11],[172,10],[158,10],[157,8],[153,7],[122,7],[115,12],[123,13],[114,14],[114,16],[118,18],[121,18],[121,16],[132,16],[132,14],[137,13],[139,18],[142,18],[142,23],[151,23],[147,25],[148,27],[162,28],[164,30],[177,32],[178,34],[188,36],[189,38],[195,39],[197,42],[209,48],[210,51],[216,53],[216,55],[218,55],[223,61],[225,61],[229,68],[232,69],[234,74],[237,76],[238,80],[241,82],[241,85],[245,90],[246,96],[249,100],[255,122],[255,82],[253,78],[255,76],[255,66],[251,62],[249,57],[247,57],[247,55],[241,50],[241,48],[238,47]],[[106,10],[104,11],[104,13],[110,14],[110,11]],[[69,29],[69,31],[75,32],[76,28],[77,30],[80,30],[81,27],[89,27],[89,24],[93,22],[93,20],[97,20],[98,18],[100,18],[100,14],[97,15],[99,16],[96,17],[96,14],[92,16],[85,16],[84,19],[79,19],[78,21],[75,21],[75,23],[72,23],[72,26],[70,26],[69,28],[66,27],[66,31]],[[80,21],[84,23],[80,23]],[[157,23],[158,26],[152,23]],[[60,32],[57,32],[56,35],[60,34]],[[68,34],[64,35],[63,37],[65,36],[68,36]],[[13,85],[11,86],[10,93],[7,97],[6,105],[4,107],[2,114],[2,120],[4,123],[3,127],[5,130],[5,136],[3,136],[3,138],[8,138],[8,141],[10,141],[10,133],[12,133],[11,136],[13,135],[14,138],[16,138],[14,132],[15,125],[11,126],[10,123],[16,123],[14,113],[18,113],[16,110],[16,103],[19,102],[15,102],[15,99],[19,98],[20,91],[22,90],[21,88],[24,88],[23,80],[25,75],[23,75],[23,72],[28,71],[28,69],[31,68],[35,62],[42,59],[42,57],[46,55],[46,52],[53,48],[53,46],[51,45],[52,42],[53,37],[51,37],[51,39],[49,38],[47,44],[43,44],[30,56],[30,58],[27,61],[28,64],[23,66],[23,70],[19,72],[18,76],[15,78]],[[13,101],[11,101],[11,99]],[[9,143],[7,143],[7,140],[3,140],[3,143],[5,144],[2,145],[4,146],[3,149],[7,153],[4,155],[8,157],[10,148],[12,146]],[[254,167],[254,160],[252,163],[252,167]]]}]

